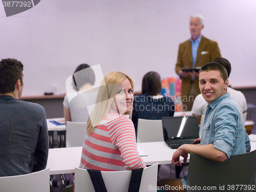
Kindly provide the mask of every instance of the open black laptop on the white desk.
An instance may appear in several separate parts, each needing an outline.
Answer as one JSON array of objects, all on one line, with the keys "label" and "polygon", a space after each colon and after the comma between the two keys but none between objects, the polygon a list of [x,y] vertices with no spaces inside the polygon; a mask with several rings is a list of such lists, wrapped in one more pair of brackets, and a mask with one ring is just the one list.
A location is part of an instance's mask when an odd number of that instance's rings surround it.
[{"label": "open black laptop on the white desk", "polygon": [[199,138],[196,116],[162,117],[163,137],[170,148],[193,144]]}]

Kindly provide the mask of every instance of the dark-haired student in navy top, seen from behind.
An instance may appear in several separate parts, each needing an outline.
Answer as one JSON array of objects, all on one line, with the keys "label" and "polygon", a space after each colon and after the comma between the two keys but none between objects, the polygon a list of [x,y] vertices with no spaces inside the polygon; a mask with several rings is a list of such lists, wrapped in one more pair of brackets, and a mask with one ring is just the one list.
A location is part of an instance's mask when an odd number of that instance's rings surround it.
[{"label": "dark-haired student in navy top, seen from behind", "polygon": [[161,77],[151,71],[142,79],[142,95],[134,98],[132,121],[137,134],[138,119],[160,120],[174,116],[175,105],[172,98],[161,95]]}]

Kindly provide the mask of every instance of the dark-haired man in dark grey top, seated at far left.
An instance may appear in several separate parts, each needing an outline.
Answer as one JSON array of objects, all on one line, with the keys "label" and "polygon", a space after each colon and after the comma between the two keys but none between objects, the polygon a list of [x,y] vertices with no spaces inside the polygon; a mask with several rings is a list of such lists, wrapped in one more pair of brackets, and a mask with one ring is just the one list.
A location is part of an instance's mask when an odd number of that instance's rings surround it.
[{"label": "dark-haired man in dark grey top, seated at far left", "polygon": [[44,108],[19,100],[23,64],[0,61],[0,177],[29,174],[45,169],[49,138]]}]

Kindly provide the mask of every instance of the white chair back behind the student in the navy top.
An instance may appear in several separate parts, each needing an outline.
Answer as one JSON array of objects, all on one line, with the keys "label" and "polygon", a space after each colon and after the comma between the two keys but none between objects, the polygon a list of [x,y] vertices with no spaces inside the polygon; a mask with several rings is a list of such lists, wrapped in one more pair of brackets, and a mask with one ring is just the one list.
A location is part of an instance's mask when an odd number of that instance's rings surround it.
[{"label": "white chair back behind the student in the navy top", "polygon": [[137,143],[164,141],[162,120],[138,119]]}]

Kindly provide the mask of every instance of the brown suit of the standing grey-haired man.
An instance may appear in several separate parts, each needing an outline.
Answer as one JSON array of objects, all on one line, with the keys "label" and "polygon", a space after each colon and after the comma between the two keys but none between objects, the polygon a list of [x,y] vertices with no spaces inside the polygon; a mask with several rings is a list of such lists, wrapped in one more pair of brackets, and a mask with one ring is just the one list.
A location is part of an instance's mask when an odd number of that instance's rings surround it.
[{"label": "brown suit of the standing grey-haired man", "polygon": [[[195,62],[195,67],[202,67],[205,63],[214,61],[217,57],[221,57],[220,49],[216,41],[210,40],[202,36],[197,58]],[[176,63],[175,71],[179,75],[181,68],[193,67],[192,51],[190,39],[182,42],[179,46],[178,59]],[[198,78],[195,78],[195,83],[197,84],[197,92],[200,94]],[[191,76],[188,75],[182,79],[181,84],[181,96],[185,99],[188,96],[189,88],[191,84]]]}]

